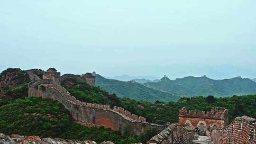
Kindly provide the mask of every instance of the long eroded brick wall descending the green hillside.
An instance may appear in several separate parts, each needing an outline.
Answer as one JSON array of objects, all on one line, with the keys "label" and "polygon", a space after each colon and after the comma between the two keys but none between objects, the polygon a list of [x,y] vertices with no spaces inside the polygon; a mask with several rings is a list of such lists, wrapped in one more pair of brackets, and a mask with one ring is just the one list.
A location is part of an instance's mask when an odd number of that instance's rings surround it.
[{"label": "long eroded brick wall descending the green hillside", "polygon": [[109,105],[81,102],[64,88],[55,87],[49,80],[30,82],[28,96],[56,99],[71,112],[76,121],[86,122],[88,126],[104,126],[116,131],[129,128],[134,134],[140,134],[150,127],[159,132],[165,128],[165,126],[148,123],[146,118],[131,114],[123,108],[111,109]]}]

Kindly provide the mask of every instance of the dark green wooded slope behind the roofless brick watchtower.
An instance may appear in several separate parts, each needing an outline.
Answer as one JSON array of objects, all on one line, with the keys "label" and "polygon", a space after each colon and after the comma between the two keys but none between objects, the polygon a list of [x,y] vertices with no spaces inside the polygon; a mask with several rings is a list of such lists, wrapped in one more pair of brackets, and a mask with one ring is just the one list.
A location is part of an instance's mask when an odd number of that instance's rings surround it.
[{"label": "dark green wooded slope behind the roofless brick watchtower", "polygon": [[[179,110],[186,107],[190,110],[210,111],[211,107],[224,107],[229,109],[229,121],[238,116],[256,118],[256,95],[233,96],[230,98],[192,97],[182,98],[177,102],[138,102],[132,99],[122,99],[125,109],[146,117],[147,121],[158,124],[178,122]],[[210,100],[209,100],[210,99]]]}]

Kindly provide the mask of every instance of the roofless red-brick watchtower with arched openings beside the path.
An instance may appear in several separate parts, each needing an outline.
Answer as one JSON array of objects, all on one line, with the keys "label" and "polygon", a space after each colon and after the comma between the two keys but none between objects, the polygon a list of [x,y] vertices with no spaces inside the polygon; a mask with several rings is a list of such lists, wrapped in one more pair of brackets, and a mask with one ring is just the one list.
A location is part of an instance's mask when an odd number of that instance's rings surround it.
[{"label": "roofless red-brick watchtower with arched openings beside the path", "polygon": [[229,124],[228,109],[211,108],[210,111],[187,111],[183,107],[179,113],[179,124],[189,129],[198,129],[199,135],[207,135],[210,128],[224,128]]}]

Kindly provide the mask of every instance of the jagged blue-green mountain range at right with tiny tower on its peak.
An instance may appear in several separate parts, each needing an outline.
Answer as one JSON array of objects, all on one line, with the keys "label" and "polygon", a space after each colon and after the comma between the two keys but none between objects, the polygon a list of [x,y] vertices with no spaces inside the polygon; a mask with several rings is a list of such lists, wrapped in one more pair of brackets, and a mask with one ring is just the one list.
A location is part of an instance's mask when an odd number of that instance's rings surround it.
[{"label": "jagged blue-green mountain range at right with tiny tower on its peak", "polygon": [[184,77],[170,80],[163,77],[158,82],[146,82],[145,86],[174,93],[177,96],[208,96],[227,97],[233,95],[256,94],[256,82],[241,77],[224,80],[213,80],[203,77]]}]

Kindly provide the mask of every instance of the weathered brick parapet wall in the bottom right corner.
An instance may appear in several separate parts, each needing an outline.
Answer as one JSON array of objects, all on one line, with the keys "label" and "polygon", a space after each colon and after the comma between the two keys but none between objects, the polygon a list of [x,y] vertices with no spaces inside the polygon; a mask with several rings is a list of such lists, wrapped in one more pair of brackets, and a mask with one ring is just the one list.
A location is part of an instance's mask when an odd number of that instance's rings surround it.
[{"label": "weathered brick parapet wall in the bottom right corner", "polygon": [[213,129],[210,138],[216,144],[256,144],[256,119],[243,116],[224,129]]}]

